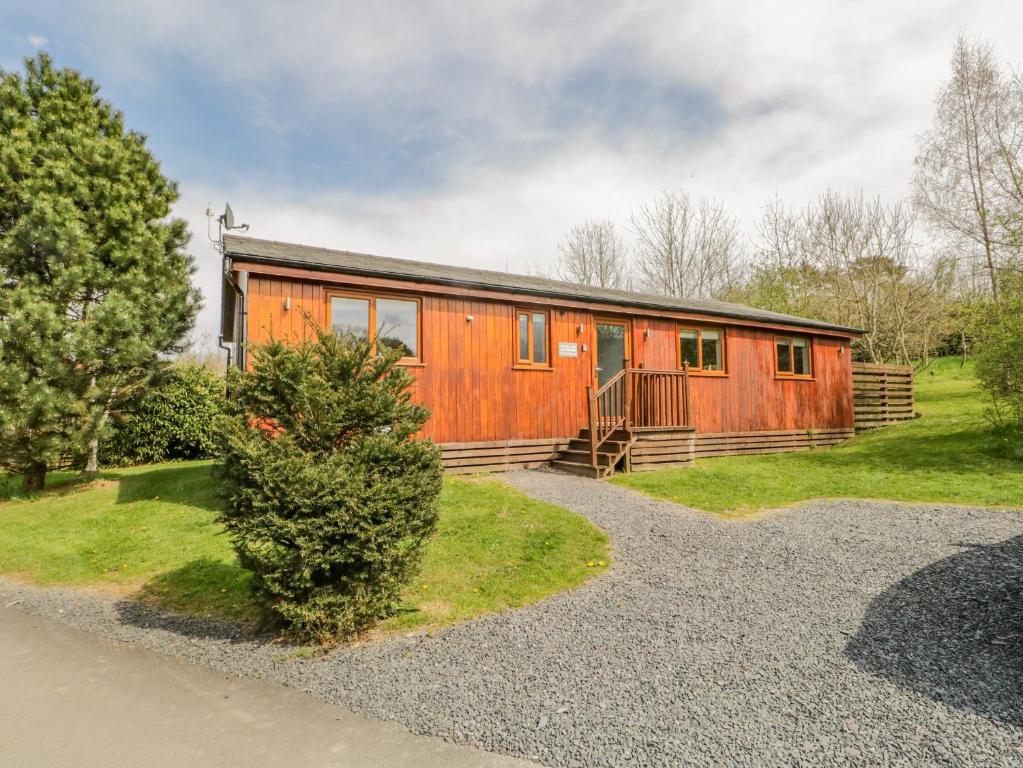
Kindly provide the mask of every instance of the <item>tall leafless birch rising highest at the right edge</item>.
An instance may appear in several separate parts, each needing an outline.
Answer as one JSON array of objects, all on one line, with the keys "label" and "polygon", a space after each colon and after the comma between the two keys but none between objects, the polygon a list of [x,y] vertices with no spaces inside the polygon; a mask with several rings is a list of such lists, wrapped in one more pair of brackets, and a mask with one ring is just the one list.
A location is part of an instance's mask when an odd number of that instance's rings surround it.
[{"label": "tall leafless birch rising highest at the right edge", "polygon": [[952,75],[920,139],[916,202],[931,224],[983,261],[998,301],[1002,252],[1012,250],[1012,209],[1023,205],[1023,87],[1007,80],[989,45],[955,42]]}]

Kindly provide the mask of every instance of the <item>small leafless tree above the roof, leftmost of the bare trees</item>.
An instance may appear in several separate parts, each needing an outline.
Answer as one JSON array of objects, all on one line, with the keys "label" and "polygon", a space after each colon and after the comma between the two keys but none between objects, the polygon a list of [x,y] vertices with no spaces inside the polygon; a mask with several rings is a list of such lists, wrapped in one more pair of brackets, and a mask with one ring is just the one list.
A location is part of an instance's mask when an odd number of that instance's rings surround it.
[{"label": "small leafless tree above the roof, leftmost of the bare trees", "polygon": [[610,219],[575,225],[558,250],[561,257],[551,277],[602,288],[630,287],[628,249]]}]

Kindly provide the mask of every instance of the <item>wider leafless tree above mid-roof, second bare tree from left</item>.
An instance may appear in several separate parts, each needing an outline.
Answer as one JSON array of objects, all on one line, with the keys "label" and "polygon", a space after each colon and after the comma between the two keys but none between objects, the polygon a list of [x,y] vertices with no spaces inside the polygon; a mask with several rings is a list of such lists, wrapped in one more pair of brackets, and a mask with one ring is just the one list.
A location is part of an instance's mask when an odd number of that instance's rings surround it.
[{"label": "wider leafless tree above mid-roof, second bare tree from left", "polygon": [[632,216],[643,287],[679,299],[727,291],[742,265],[739,225],[720,200],[662,192]]}]

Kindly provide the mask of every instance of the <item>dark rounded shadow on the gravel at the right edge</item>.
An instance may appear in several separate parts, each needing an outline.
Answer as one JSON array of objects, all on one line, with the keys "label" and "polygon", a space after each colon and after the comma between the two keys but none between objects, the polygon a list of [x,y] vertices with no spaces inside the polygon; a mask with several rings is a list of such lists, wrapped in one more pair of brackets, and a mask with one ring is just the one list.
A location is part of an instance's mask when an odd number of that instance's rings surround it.
[{"label": "dark rounded shadow on the gravel at the right edge", "polygon": [[900,687],[1023,725],[1023,536],[969,545],[886,590],[846,654]]}]

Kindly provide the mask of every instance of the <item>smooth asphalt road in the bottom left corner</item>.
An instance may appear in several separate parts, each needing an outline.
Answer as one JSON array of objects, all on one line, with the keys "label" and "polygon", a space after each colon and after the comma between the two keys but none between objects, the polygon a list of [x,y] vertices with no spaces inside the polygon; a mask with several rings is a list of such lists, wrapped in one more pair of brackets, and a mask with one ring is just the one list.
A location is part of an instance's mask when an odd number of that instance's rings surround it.
[{"label": "smooth asphalt road in the bottom left corner", "polygon": [[0,607],[0,765],[529,764]]}]

